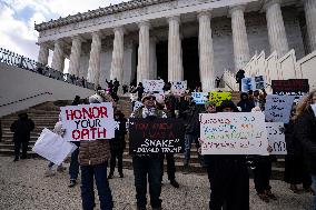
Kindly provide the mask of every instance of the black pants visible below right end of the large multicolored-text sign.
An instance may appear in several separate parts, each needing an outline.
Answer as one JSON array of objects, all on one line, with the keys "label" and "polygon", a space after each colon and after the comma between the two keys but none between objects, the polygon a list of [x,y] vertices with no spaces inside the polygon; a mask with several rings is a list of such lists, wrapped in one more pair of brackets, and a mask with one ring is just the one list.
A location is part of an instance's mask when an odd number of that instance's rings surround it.
[{"label": "black pants visible below right end of the large multicolored-text sign", "polygon": [[261,160],[255,160],[254,182],[257,193],[270,190],[269,180],[271,177],[271,160],[269,157],[263,157]]}]

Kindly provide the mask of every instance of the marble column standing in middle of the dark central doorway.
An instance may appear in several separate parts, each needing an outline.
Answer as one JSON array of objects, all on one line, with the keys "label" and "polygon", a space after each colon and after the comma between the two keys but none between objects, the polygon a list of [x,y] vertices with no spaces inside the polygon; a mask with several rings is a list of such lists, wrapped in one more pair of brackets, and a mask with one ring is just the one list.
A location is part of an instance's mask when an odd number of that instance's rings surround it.
[{"label": "marble column standing in middle of the dark central doorway", "polygon": [[168,18],[168,81],[182,81],[181,40],[179,34],[180,17]]}]

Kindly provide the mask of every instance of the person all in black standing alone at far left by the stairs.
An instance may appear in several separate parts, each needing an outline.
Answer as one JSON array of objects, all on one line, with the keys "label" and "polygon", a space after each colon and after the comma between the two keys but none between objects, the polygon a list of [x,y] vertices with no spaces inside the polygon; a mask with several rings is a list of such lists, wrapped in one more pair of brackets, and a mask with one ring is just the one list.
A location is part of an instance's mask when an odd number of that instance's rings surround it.
[{"label": "person all in black standing alone at far left by the stairs", "polygon": [[[28,118],[27,113],[19,113],[19,119],[11,124],[10,129],[14,132],[14,161],[18,161],[20,158],[26,159],[30,141],[30,132],[34,129],[34,122]],[[21,146],[22,156],[20,157]]]}]

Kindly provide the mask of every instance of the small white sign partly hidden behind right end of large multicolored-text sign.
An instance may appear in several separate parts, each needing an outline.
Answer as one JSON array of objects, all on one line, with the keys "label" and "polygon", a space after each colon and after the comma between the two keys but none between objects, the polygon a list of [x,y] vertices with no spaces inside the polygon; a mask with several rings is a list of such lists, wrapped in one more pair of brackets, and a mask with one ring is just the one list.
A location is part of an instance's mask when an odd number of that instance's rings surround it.
[{"label": "small white sign partly hidden behind right end of large multicolored-text sign", "polygon": [[266,122],[270,154],[287,154],[283,122]]}]

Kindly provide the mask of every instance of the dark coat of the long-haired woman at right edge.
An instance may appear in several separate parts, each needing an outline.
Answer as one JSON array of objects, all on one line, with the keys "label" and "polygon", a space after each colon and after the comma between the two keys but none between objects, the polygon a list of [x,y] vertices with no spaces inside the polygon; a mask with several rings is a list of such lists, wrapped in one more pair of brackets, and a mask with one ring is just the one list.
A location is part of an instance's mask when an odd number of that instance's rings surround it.
[{"label": "dark coat of the long-haired woman at right edge", "polygon": [[316,176],[316,117],[310,107],[298,118],[296,132],[304,148],[307,169]]}]

